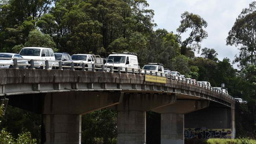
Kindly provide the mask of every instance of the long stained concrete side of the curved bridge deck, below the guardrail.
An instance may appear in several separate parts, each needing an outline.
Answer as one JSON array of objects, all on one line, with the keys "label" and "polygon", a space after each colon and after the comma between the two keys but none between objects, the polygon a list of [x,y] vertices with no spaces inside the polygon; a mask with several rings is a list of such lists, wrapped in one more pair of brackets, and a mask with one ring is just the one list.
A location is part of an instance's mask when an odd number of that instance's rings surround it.
[{"label": "long stained concrete side of the curved bridge deck, below the guardrail", "polygon": [[120,90],[121,92],[176,93],[178,98],[202,99],[231,107],[234,100],[204,87],[167,79],[146,82],[143,75],[74,70],[0,69],[0,96],[61,91]]}]

